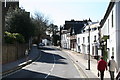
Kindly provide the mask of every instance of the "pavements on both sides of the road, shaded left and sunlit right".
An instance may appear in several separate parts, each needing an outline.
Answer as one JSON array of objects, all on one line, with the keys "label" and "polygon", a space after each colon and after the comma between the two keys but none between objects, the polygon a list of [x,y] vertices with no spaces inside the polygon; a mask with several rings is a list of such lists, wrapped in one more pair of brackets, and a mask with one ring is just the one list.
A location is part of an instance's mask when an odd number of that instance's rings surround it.
[{"label": "pavements on both sides of the road, shaded left and sunlit right", "polygon": [[[60,49],[60,48],[58,47],[58,49]],[[68,56],[79,67],[80,71],[82,71],[85,74],[85,76],[86,76],[85,78],[99,78],[97,76],[97,74],[98,74],[97,60],[91,58],[90,59],[90,65],[91,65],[90,70],[86,70],[88,68],[88,60],[86,59],[84,54],[77,53],[77,52],[71,51],[71,50],[66,50],[66,49],[61,49],[61,50],[68,53]],[[11,72],[19,70],[22,67],[24,67],[24,66],[32,63],[36,59],[38,59],[40,57],[40,52],[37,49],[37,47],[35,47],[35,46],[32,47],[32,50],[30,51],[30,54],[28,57],[29,58],[27,61],[26,61],[26,58],[23,58],[23,59],[15,61],[15,62],[2,65],[2,75],[5,76]],[[105,71],[104,78],[110,78],[109,71]]]}]

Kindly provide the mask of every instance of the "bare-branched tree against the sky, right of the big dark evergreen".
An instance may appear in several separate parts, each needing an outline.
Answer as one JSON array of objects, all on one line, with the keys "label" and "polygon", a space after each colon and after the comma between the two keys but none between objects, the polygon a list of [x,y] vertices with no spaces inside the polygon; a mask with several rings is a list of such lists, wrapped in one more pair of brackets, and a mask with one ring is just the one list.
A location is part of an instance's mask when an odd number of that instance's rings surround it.
[{"label": "bare-branched tree against the sky, right of the big dark evergreen", "polygon": [[46,30],[49,27],[49,20],[44,17],[42,13],[36,12],[32,22],[35,25],[35,36],[37,36],[37,43],[46,38]]}]

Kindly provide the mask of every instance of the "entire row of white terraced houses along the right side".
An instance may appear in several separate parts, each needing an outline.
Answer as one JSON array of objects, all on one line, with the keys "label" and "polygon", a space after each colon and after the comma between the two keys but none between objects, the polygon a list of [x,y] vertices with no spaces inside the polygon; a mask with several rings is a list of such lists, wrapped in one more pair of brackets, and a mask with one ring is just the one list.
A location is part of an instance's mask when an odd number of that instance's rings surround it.
[{"label": "entire row of white terraced houses along the right side", "polygon": [[120,68],[120,1],[111,0],[100,22],[88,20],[87,24],[84,23],[82,28],[77,28],[77,31],[80,32],[75,34],[74,27],[62,30],[63,48],[82,53],[86,58],[89,48],[90,55],[96,59],[103,56],[108,61],[111,56],[114,56]]}]

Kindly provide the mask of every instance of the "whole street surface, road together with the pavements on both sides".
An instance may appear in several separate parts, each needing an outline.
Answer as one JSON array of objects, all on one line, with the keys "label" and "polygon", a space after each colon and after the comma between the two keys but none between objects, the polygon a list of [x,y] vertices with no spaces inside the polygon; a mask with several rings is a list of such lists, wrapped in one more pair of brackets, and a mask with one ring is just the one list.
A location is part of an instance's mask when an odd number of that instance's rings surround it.
[{"label": "whole street surface, road together with the pavements on both sides", "polygon": [[[37,53],[38,51],[38,53]],[[33,60],[33,55],[35,56]],[[32,56],[32,57],[30,57]],[[6,66],[12,64],[11,69],[17,65],[25,64],[26,59],[23,61],[16,61],[3,65],[5,71]],[[31,61],[33,60],[33,61]],[[31,64],[21,67],[21,69],[14,70],[12,72],[6,72],[4,78],[90,78],[98,79],[95,59],[91,59],[91,70],[86,70],[87,60],[80,53],[76,53],[70,50],[64,50],[59,47],[45,47],[44,49],[37,49],[33,46],[31,53],[29,54],[29,60]],[[24,62],[24,63],[23,63]],[[27,63],[27,62],[26,62]],[[9,66],[10,67],[10,66]],[[7,70],[7,68],[6,68]],[[73,74],[74,73],[74,74]],[[105,78],[109,78],[109,72],[105,71]]]}]

